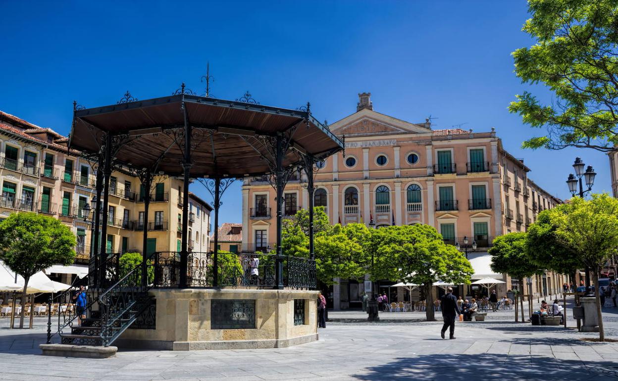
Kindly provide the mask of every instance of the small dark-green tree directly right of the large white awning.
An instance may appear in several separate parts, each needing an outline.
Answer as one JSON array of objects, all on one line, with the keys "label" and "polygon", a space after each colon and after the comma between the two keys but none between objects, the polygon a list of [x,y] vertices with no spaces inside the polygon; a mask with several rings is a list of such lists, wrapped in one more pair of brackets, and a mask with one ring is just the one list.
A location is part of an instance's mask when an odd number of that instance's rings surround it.
[{"label": "small dark-green tree directly right of the large white awning", "polygon": [[[491,256],[491,270],[519,279],[523,296],[525,279],[540,272],[538,265],[528,256],[527,233],[508,233],[494,238],[493,246],[489,248],[488,253]],[[524,322],[523,298],[520,298],[520,303]]]}]

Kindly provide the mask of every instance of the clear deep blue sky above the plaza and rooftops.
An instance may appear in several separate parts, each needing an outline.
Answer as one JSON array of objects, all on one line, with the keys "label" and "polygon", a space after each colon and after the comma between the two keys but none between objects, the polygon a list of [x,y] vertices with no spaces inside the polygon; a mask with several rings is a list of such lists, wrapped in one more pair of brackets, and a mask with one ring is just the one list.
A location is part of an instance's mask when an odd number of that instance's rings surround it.
[{"label": "clear deep blue sky above the plaza and rooftops", "polygon": [[[521,31],[523,1],[235,1],[2,2],[0,109],[69,133],[72,101],[114,104],[125,91],[140,99],[170,94],[186,82],[234,99],[249,90],[262,104],[311,101],[330,123],[355,111],[370,91],[374,109],[410,122],[488,131],[523,157],[530,177],[560,198],[575,156],[611,190],[607,156],[591,150],[530,151],[540,130],[507,106],[530,90],[513,73],[510,52],[533,41]],[[535,90],[551,99],[544,89]],[[201,185],[192,190],[212,201]],[[240,187],[228,190],[221,222],[240,222]]]}]

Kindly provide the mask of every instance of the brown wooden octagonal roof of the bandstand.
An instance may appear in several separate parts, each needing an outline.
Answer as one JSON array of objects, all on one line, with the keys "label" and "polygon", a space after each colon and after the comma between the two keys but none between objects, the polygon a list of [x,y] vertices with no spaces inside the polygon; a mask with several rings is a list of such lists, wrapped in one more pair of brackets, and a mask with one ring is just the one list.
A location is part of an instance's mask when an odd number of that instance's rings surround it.
[{"label": "brown wooden octagonal roof of the bandstand", "polygon": [[77,110],[70,148],[98,153],[106,133],[128,135],[117,161],[137,169],[159,162],[158,171],[181,175],[183,148],[176,141],[184,141],[183,101],[193,130],[191,177],[269,173],[274,161],[269,138],[279,133],[291,136],[284,167],[300,163],[300,153],[321,159],[343,149],[342,141],[310,112],[188,94]]}]

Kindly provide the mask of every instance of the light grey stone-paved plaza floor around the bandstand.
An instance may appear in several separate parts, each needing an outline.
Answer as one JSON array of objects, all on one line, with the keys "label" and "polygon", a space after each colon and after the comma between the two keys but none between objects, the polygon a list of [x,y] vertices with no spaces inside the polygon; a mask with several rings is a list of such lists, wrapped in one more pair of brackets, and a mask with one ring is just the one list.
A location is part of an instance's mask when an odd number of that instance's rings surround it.
[{"label": "light grey stone-paved plaza floor around the bandstand", "polygon": [[[438,312],[439,315],[439,312]],[[569,314],[570,315],[570,314]],[[111,359],[41,356],[45,321],[7,329],[0,319],[0,379],[7,380],[617,380],[618,343],[576,329],[513,322],[513,310],[485,322],[457,322],[456,340],[421,312],[331,312],[320,340],[291,348],[223,351],[119,351]],[[618,338],[618,308],[604,311]],[[575,326],[574,320],[569,320]]]}]

